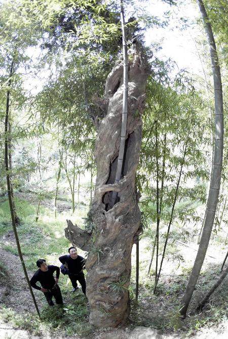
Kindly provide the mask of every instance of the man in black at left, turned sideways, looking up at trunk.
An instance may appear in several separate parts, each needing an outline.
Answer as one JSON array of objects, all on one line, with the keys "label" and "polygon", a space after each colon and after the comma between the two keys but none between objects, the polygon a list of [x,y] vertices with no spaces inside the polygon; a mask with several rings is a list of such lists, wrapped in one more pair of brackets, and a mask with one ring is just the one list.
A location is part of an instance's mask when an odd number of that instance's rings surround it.
[{"label": "man in black at left, turned sideways, looking up at trunk", "polygon": [[[54,265],[47,265],[45,259],[39,259],[36,261],[36,266],[39,269],[35,272],[34,276],[30,280],[30,284],[36,290],[40,290],[44,293],[50,306],[54,305],[52,297],[54,296],[56,303],[62,304],[62,294],[58,285],[60,268]],[[56,271],[56,278],[53,277]],[[42,287],[36,285],[39,282]]]}]

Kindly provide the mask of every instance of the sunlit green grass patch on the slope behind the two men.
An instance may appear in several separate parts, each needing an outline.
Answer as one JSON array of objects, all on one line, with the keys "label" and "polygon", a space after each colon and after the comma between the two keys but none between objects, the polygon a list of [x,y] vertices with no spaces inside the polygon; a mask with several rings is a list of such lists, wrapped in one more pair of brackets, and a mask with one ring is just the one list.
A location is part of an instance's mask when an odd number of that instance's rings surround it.
[{"label": "sunlit green grass patch on the slope behind the two men", "polygon": [[[35,262],[39,258],[45,258],[50,264],[59,264],[58,257],[66,253],[70,245],[64,234],[66,219],[69,216],[61,213],[55,218],[52,210],[41,206],[39,219],[35,222],[36,206],[17,198],[15,202],[18,216],[22,220],[17,231],[26,267],[35,270]],[[72,221],[82,225],[86,213],[86,209],[77,210],[72,216]],[[2,204],[0,202],[0,236],[9,231],[12,231],[9,202],[4,200]],[[1,246],[10,253],[18,255],[14,235],[10,234],[9,240],[7,238],[7,241],[2,241]]]}]

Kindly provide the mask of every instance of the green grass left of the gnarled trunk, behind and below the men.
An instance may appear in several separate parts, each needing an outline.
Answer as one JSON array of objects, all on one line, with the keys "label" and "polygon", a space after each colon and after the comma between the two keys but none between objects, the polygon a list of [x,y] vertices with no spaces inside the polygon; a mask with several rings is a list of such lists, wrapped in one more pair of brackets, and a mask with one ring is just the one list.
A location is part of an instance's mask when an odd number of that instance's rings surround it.
[{"label": "green grass left of the gnarled trunk, behind and below the men", "polygon": [[[53,211],[42,207],[40,218],[38,222],[35,222],[35,206],[29,205],[27,201],[20,200],[17,201],[17,207],[18,214],[23,218],[22,224],[18,227],[18,234],[29,277],[37,269],[35,262],[38,258],[45,258],[48,263],[59,266],[58,257],[67,253],[67,249],[70,246],[64,236],[65,219],[71,217],[73,222],[82,224],[82,217],[86,215],[86,211],[77,211],[77,217],[59,214],[55,219]],[[18,255],[9,221],[8,201],[2,202],[0,206],[0,238],[1,236],[0,247],[11,254]],[[80,254],[84,255],[83,252],[80,252]],[[15,260],[15,264],[16,262],[20,264]],[[4,264],[2,266],[7,269]],[[10,269],[8,267],[8,271]],[[72,287],[67,276],[60,275],[59,286],[65,301],[64,309],[58,306],[54,308],[48,307],[43,294],[39,291],[34,291],[41,307],[43,323],[34,315],[32,304],[30,305],[30,314],[26,314],[26,316],[17,314],[16,298],[15,304],[11,307],[9,305],[2,307],[0,311],[2,319],[10,321],[17,328],[28,329],[33,334],[42,334],[46,331],[55,333],[56,329],[63,336],[74,333],[88,335],[91,332],[91,326],[88,324],[89,312],[86,298],[81,290],[74,294],[71,293]],[[23,293],[23,291],[20,292]],[[17,291],[15,290],[14,293],[16,294]]]}]

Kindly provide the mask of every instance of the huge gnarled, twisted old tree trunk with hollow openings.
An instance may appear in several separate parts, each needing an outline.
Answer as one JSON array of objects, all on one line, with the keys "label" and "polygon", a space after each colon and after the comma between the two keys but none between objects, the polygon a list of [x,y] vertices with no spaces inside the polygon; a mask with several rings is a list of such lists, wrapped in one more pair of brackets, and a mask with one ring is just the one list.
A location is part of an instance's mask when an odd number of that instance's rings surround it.
[{"label": "huge gnarled, twisted old tree trunk with hollow openings", "polygon": [[[93,242],[91,240],[89,244],[89,234],[70,222],[65,230],[66,237],[73,244],[84,250],[90,247],[86,261],[87,297],[91,309],[90,322],[96,326],[118,326],[126,321],[130,310],[128,286],[131,250],[140,227],[135,175],[141,147],[141,114],[145,106],[144,93],[149,73],[144,50],[138,42],[134,46],[128,71],[128,122],[123,178],[115,183],[124,89],[123,61],[118,61],[107,77],[104,99],[99,99],[102,109],[105,108],[105,117],[100,123],[95,145],[97,179],[90,209],[95,224]],[[112,191],[118,192],[118,201],[110,208]],[[121,286],[121,282],[122,288],[118,291],[113,288]]]}]

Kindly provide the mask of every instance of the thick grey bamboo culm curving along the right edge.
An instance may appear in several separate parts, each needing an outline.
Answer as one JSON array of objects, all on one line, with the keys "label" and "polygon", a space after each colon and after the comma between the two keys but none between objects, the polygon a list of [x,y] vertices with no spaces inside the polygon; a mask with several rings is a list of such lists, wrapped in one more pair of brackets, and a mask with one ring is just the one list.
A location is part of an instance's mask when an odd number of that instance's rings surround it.
[{"label": "thick grey bamboo culm curving along the right edge", "polygon": [[220,68],[218,62],[218,55],[212,28],[204,7],[202,0],[198,0],[200,11],[203,17],[205,29],[207,32],[208,43],[210,46],[211,64],[214,78],[214,98],[215,98],[215,143],[214,143],[214,162],[212,169],[212,178],[210,183],[210,190],[208,195],[208,202],[206,208],[206,217],[204,228],[201,236],[201,241],[197,253],[197,257],[192,269],[191,276],[186,287],[182,299],[183,308],[181,309],[181,316],[185,317],[189,302],[192,298],[200,271],[207,252],[211,231],[214,223],[216,207],[218,203],[218,195],[221,181],[222,169],[222,152],[223,152],[223,100],[222,100],[222,83]]}]

